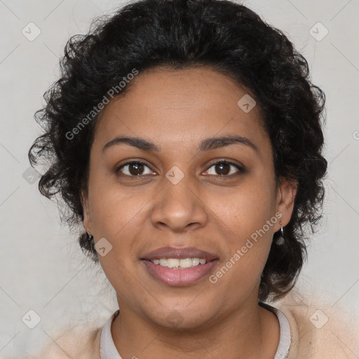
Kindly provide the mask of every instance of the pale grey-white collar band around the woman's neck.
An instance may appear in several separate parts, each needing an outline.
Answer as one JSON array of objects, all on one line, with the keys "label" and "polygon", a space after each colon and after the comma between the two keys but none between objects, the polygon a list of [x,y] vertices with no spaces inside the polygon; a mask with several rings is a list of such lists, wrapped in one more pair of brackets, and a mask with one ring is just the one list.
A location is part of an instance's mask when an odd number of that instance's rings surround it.
[{"label": "pale grey-white collar band around the woman's neck", "polygon": [[[274,359],[286,359],[290,348],[290,326],[288,320],[279,309],[264,303],[260,303],[260,306],[273,311],[273,313],[275,313],[278,317],[280,326],[280,339]],[[112,314],[111,318],[107,320],[107,323],[102,328],[100,338],[101,359],[122,359],[111,336],[111,323],[114,321],[114,318],[118,316],[118,313],[119,311],[117,310],[114,314]]]}]

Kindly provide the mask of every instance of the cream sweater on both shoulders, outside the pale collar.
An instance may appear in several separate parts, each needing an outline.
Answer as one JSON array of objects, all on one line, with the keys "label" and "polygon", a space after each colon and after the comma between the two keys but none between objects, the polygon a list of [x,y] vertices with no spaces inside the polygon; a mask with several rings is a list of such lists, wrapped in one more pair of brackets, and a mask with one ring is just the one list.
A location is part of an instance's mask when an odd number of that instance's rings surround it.
[{"label": "cream sweater on both shoulders, outside the pale collar", "polygon": [[[311,302],[311,303],[309,303]],[[318,301],[317,301],[318,302]],[[359,320],[337,306],[313,304],[313,298],[294,291],[268,303],[282,311],[290,324],[291,345],[287,359],[359,358]],[[100,359],[102,327],[78,327],[55,338],[36,359]],[[24,359],[34,358],[34,356]]]}]

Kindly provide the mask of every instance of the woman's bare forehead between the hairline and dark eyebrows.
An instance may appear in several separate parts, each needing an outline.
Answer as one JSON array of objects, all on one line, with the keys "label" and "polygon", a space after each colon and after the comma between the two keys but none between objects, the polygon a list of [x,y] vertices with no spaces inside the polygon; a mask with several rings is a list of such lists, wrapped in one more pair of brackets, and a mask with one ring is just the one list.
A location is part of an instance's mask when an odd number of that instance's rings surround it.
[{"label": "woman's bare forehead between the hairline and dark eyebrows", "polygon": [[151,69],[138,74],[128,91],[105,107],[95,142],[100,146],[116,135],[129,135],[161,142],[165,149],[233,134],[263,147],[269,139],[259,106],[250,102],[253,97],[231,77],[210,68]]}]

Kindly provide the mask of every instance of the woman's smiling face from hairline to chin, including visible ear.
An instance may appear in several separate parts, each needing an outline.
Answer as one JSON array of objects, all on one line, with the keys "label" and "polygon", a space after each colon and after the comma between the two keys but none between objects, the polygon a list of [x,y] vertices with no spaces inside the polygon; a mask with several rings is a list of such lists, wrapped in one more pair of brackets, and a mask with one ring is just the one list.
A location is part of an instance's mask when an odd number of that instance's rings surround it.
[{"label": "woman's smiling face from hairline to chin, including visible ear", "polygon": [[[273,233],[295,195],[289,182],[276,187],[259,106],[209,68],[152,69],[132,81],[97,123],[84,200],[121,313],[189,328],[257,306]],[[151,255],[161,248],[172,252]]]}]

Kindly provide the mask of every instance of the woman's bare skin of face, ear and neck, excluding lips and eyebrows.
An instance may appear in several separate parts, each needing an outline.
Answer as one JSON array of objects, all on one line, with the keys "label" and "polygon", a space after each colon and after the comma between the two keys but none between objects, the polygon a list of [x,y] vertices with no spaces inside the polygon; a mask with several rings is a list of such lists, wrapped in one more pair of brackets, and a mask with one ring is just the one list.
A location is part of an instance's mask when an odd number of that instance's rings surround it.
[{"label": "woman's bare skin of face, ear and neck, excluding lips and eyebrows", "polygon": [[[296,187],[284,179],[276,187],[259,106],[245,113],[237,102],[250,91],[206,67],[151,69],[130,86],[97,122],[83,196],[85,229],[95,243],[106,238],[112,245],[99,257],[117,293],[120,314],[111,334],[118,352],[123,358],[273,358],[279,323],[257,302],[279,220],[215,284],[207,276],[170,287],[140,260],[157,248],[196,247],[219,257],[213,274],[276,212],[282,226],[290,221]],[[128,144],[102,151],[118,135],[144,138],[161,151]],[[244,144],[198,151],[202,140],[224,135],[246,137],[257,151]],[[147,167],[116,173],[133,160]],[[216,160],[245,172],[212,165]],[[174,165],[184,174],[178,184],[165,177]],[[177,324],[170,313],[180,318]]]}]

